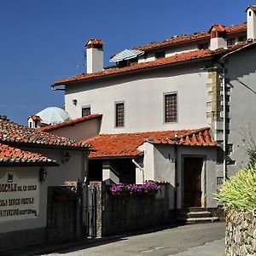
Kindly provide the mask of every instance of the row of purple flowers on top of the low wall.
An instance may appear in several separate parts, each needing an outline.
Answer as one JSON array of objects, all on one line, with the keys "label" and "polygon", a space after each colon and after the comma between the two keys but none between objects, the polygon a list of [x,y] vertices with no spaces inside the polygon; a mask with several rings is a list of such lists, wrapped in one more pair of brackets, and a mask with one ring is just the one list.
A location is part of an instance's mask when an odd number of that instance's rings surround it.
[{"label": "row of purple flowers on top of the low wall", "polygon": [[129,194],[145,193],[147,194],[150,191],[157,191],[160,189],[160,186],[154,182],[148,182],[144,184],[128,184],[124,185],[123,183],[114,184],[110,188],[110,191],[113,195],[120,195],[124,192]]}]

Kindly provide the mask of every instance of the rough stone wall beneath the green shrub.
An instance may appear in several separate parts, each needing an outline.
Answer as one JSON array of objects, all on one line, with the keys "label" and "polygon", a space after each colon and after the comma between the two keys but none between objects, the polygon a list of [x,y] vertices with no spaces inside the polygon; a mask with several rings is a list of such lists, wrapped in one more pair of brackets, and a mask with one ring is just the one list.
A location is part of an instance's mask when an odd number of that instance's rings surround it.
[{"label": "rough stone wall beneath the green shrub", "polygon": [[236,212],[227,216],[226,255],[256,255],[256,216],[252,212]]}]

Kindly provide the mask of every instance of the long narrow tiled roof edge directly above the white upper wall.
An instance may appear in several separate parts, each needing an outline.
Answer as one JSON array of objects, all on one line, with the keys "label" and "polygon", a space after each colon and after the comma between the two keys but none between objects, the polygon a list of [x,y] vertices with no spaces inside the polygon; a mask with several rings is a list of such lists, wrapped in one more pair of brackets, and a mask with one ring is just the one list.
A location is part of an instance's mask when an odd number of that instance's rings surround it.
[{"label": "long narrow tiled roof edge directly above the white upper wall", "polygon": [[210,49],[197,49],[197,50],[191,50],[189,52],[184,52],[182,54],[172,55],[170,57],[166,57],[160,60],[156,61],[148,61],[143,63],[137,63],[136,65],[129,66],[129,67],[121,67],[121,68],[115,68],[115,69],[108,69],[104,70],[102,72],[98,73],[81,73],[79,75],[76,75],[71,78],[67,79],[61,79],[54,83],[54,85],[58,84],[68,84],[70,82],[77,82],[77,81],[83,81],[87,79],[96,79],[96,78],[102,78],[114,74],[121,74],[121,73],[129,73],[132,71],[139,71],[143,70],[149,67],[162,67],[166,65],[172,65],[172,64],[183,64],[186,61],[202,61],[207,58],[213,58],[218,55],[224,55],[225,53],[229,53],[232,50],[239,49],[242,46],[246,45],[247,43],[241,43],[236,44],[228,47],[227,49],[216,49],[216,50],[210,50]]}]

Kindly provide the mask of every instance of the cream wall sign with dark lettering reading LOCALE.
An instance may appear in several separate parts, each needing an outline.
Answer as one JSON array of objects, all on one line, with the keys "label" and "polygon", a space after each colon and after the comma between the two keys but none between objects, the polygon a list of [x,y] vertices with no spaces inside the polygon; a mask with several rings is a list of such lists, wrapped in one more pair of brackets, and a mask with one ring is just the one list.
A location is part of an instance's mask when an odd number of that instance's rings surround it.
[{"label": "cream wall sign with dark lettering reading LOCALE", "polygon": [[[0,222],[38,218],[39,181],[13,169],[0,172]],[[24,171],[26,172],[26,171]]]}]

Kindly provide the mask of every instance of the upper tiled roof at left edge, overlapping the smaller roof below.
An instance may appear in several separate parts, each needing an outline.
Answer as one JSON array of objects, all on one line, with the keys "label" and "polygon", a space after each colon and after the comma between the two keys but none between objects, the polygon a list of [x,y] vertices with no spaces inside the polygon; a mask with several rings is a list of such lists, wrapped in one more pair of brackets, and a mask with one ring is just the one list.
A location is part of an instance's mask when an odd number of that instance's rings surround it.
[{"label": "upper tiled roof at left edge, overlapping the smaller roof below", "polygon": [[90,146],[87,143],[71,140],[66,137],[59,137],[38,129],[18,125],[7,120],[0,120],[0,143],[8,144],[32,144],[47,146],[48,148],[80,148],[86,149]]}]

